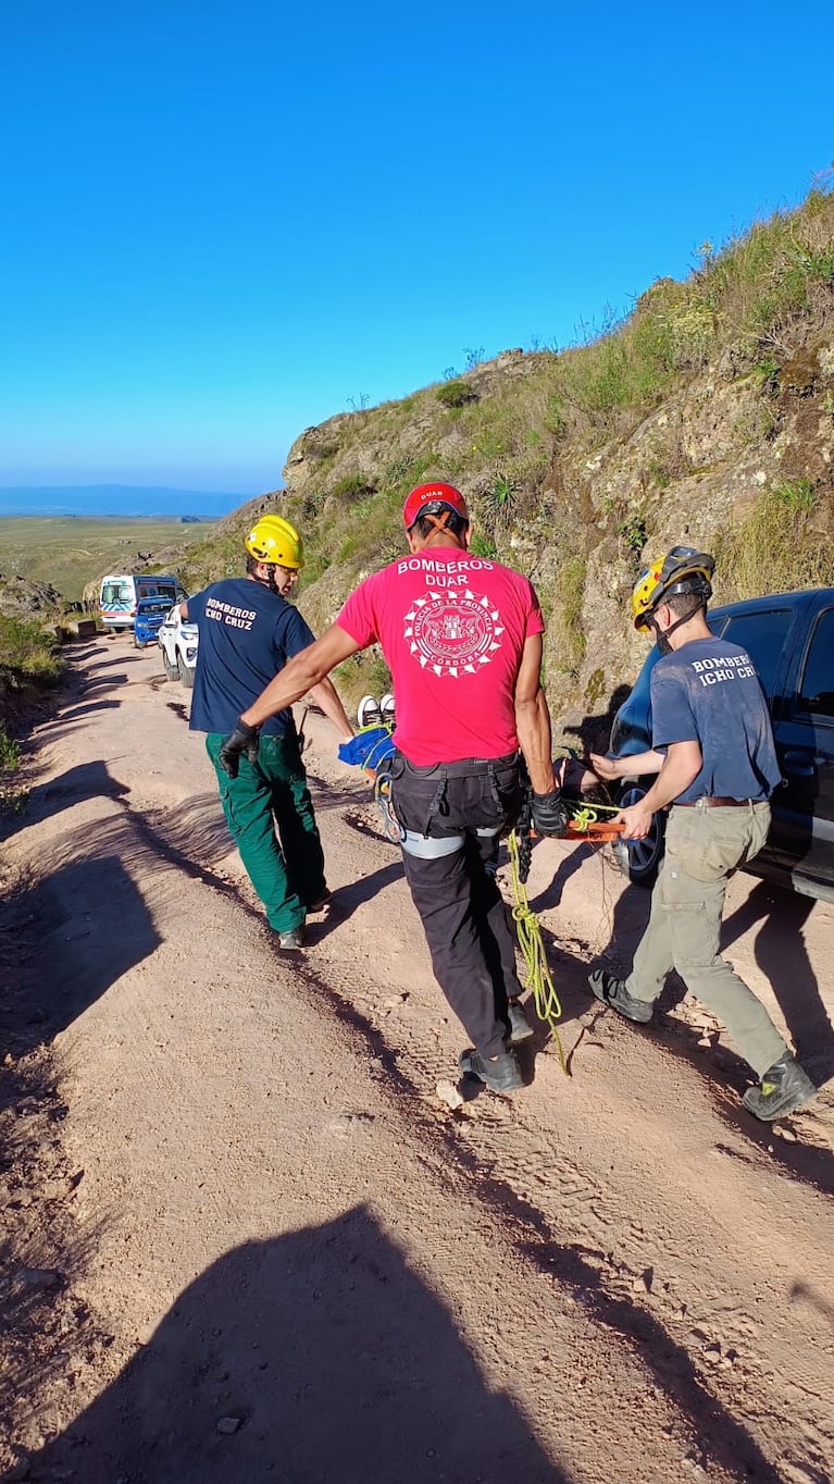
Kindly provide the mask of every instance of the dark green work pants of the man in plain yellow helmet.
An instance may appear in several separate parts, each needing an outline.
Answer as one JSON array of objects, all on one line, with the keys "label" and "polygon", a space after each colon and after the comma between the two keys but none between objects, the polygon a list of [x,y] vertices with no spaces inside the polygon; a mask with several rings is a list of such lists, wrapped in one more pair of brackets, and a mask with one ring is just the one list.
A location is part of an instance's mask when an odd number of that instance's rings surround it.
[{"label": "dark green work pants of the man in plain yellow helmet", "polygon": [[229,778],[218,761],[223,736],[209,732],[206,752],[217,773],[226,822],[270,928],[291,932],[326,890],[322,841],[298,741],[294,733],[261,735],[258,761],[252,764],[243,754],[237,778]]}]

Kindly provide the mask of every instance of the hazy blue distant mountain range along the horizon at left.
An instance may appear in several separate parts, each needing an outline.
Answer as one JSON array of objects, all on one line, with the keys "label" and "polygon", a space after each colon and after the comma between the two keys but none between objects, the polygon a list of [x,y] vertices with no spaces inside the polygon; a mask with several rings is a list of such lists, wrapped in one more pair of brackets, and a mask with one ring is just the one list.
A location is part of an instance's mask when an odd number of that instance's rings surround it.
[{"label": "hazy blue distant mountain range along the horizon at left", "polygon": [[248,494],[166,490],[163,485],[67,484],[0,485],[1,515],[82,515],[116,519],[218,521],[245,505]]}]

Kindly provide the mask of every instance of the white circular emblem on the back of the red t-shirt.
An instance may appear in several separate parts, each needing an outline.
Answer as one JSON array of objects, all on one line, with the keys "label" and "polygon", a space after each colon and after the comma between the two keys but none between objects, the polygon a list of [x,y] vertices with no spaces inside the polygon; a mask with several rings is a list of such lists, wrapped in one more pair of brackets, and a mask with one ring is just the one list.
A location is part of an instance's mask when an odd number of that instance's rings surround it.
[{"label": "white circular emblem on the back of the red t-shirt", "polygon": [[405,614],[408,650],[435,675],[475,675],[502,647],[505,626],[488,598],[469,588],[427,592]]}]

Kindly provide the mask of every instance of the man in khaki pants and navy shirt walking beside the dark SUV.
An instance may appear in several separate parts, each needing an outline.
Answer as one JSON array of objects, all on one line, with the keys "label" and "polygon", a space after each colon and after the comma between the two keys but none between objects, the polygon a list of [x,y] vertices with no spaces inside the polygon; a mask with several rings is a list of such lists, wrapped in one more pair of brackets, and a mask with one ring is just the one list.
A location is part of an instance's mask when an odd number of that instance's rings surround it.
[{"label": "man in khaki pants and navy shirt walking beside the dark SUV", "polygon": [[769,798],[781,773],[767,703],[749,656],[706,623],[714,558],[674,546],[632,594],[635,628],[653,629],[662,659],[651,671],[651,751],[592,754],[602,778],[657,773],[649,792],[617,815],[626,840],[643,840],[671,806],[666,852],[651,916],[628,979],[591,975],[597,999],[626,1020],[651,1020],[671,969],[724,1021],[760,1077],[745,1107],[772,1120],[803,1107],[816,1088],[764,1006],[718,954],[727,879],[763,847]]}]

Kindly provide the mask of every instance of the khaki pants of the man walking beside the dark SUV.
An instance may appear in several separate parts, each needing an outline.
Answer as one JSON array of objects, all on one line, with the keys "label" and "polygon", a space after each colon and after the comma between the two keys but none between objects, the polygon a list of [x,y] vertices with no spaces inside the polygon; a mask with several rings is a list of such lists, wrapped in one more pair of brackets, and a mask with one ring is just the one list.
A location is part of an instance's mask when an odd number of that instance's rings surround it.
[{"label": "khaki pants of the man walking beside the dark SUV", "polygon": [[757,1076],[787,1046],[767,1011],[718,953],[727,879],[752,861],[767,838],[770,804],[672,807],[666,853],[651,895],[651,916],[634,956],[626,988],[657,999],[671,969],[712,1011]]}]

